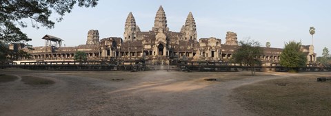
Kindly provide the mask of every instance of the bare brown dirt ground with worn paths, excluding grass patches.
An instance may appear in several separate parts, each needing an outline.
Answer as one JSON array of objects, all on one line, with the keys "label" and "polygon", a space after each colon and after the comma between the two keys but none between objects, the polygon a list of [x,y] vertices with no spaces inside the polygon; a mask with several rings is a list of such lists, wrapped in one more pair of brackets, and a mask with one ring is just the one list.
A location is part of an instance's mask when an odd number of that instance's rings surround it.
[{"label": "bare brown dirt ground with worn paths, excluding grass patches", "polygon": [[[28,71],[3,69],[0,115],[257,115],[232,99],[239,86],[305,73]],[[33,86],[23,76],[52,80]],[[217,78],[207,82],[205,78]]]}]

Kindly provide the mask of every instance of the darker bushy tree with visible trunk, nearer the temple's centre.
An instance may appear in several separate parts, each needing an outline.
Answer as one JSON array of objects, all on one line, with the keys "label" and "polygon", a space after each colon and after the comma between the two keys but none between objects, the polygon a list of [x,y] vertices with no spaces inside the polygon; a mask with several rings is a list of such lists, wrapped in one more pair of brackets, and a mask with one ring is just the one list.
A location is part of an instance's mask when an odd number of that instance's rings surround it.
[{"label": "darker bushy tree with visible trunk, nearer the temple's centre", "polygon": [[246,40],[239,42],[239,48],[234,51],[232,60],[251,67],[252,76],[255,75],[255,66],[261,65],[260,56],[263,56],[263,49],[258,41]]}]

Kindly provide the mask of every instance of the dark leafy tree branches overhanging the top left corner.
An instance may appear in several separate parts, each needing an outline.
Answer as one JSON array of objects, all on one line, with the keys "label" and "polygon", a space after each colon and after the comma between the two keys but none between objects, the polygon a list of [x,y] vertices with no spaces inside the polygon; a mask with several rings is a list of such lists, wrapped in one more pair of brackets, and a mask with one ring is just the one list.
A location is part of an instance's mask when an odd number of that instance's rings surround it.
[{"label": "dark leafy tree branches overhanging the top left corner", "polygon": [[[19,27],[28,27],[26,21],[30,19],[32,27],[53,28],[54,21],[50,20],[53,12],[59,14],[57,22],[62,21],[66,13],[70,13],[74,5],[86,8],[97,5],[98,0],[1,0],[0,1],[0,40],[25,43],[30,41]],[[19,26],[17,26],[19,25]]]}]

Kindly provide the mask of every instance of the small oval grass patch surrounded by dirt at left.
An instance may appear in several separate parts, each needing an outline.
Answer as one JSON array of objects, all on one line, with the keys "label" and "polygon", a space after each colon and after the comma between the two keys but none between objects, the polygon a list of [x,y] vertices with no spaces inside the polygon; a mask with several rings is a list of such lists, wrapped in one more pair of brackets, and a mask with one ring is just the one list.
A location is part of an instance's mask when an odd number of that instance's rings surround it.
[{"label": "small oval grass patch surrounded by dirt at left", "polygon": [[54,84],[54,81],[52,80],[48,80],[45,78],[37,78],[34,76],[22,76],[22,82],[24,82],[25,84],[29,84],[32,86],[35,85],[45,85],[45,84]]}]

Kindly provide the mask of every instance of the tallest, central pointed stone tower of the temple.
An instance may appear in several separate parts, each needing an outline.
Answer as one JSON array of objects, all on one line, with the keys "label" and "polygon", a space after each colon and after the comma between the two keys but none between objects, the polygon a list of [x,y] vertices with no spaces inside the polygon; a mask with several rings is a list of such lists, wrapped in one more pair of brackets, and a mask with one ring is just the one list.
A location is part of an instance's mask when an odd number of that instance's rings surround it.
[{"label": "tallest, central pointed stone tower of the temple", "polygon": [[154,27],[152,27],[152,31],[159,32],[162,29],[163,32],[168,32],[169,28],[167,27],[167,17],[165,16],[165,12],[160,5],[159,10],[157,10],[157,15],[155,16]]}]

